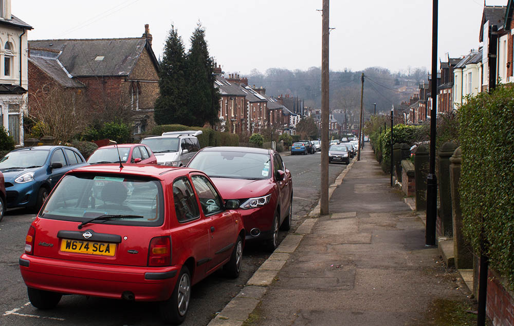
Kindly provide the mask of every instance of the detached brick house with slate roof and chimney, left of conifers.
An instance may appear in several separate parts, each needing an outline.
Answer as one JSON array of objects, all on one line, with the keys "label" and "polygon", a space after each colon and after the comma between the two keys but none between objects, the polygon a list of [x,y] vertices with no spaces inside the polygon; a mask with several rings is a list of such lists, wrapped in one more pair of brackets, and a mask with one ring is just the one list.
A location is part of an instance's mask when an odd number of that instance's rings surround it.
[{"label": "detached brick house with slate roof and chimney, left of conifers", "polygon": [[132,110],[134,134],[150,129],[159,63],[144,27],[141,37],[127,39],[29,41],[30,93],[48,83],[81,89],[94,110]]}]

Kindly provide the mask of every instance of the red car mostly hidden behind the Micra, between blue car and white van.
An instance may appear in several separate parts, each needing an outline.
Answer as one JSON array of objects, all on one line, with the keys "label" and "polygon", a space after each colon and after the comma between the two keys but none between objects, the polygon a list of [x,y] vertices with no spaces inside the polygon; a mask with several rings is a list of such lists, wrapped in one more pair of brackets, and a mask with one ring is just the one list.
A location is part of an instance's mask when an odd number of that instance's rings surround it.
[{"label": "red car mostly hidden behind the Micra, between blue car and white van", "polygon": [[119,144],[98,147],[87,159],[89,164],[101,163],[157,164],[150,147],[144,144]]}]

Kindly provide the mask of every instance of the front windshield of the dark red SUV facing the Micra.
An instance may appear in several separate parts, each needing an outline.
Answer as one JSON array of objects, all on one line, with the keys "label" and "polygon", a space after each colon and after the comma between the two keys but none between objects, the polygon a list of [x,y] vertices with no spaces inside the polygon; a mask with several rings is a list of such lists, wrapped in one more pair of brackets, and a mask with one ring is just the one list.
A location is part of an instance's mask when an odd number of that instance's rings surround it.
[{"label": "front windshield of the dark red SUV facing the Micra", "polygon": [[211,178],[268,179],[271,177],[267,154],[236,151],[200,151],[188,167],[204,171]]}]

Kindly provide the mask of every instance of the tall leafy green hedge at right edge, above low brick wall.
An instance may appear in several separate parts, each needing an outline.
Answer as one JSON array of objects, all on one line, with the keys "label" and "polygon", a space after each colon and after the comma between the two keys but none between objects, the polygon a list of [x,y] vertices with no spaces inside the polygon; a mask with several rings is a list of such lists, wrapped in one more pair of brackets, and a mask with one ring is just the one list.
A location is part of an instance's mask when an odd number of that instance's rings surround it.
[{"label": "tall leafy green hedge at right edge, above low brick wall", "polygon": [[480,233],[491,267],[514,287],[514,89],[469,98],[459,112],[463,232],[475,253]]}]

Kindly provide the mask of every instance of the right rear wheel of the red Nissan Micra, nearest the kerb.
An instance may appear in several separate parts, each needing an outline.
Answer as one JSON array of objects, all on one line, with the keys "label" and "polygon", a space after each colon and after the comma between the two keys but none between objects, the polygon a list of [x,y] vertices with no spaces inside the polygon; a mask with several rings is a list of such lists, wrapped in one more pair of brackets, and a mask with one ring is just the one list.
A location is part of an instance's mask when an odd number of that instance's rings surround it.
[{"label": "right rear wheel of the red Nissan Micra, nearest the kerb", "polygon": [[182,266],[171,297],[160,302],[161,319],[168,324],[180,324],[186,319],[191,300],[191,274],[186,265]]}]

